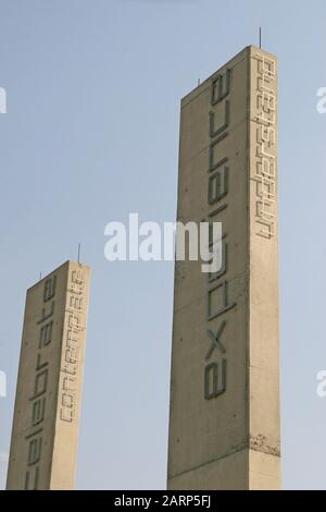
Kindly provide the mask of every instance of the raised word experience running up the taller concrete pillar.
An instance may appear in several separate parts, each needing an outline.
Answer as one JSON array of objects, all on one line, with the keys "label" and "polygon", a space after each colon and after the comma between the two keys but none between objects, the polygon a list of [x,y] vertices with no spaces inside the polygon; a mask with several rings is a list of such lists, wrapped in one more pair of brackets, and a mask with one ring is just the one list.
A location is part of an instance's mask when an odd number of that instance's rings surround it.
[{"label": "raised word experience running up the taller concrete pillar", "polygon": [[[228,207],[229,159],[221,149],[221,143],[228,136],[231,120],[231,70],[218,73],[211,82],[211,109],[209,111],[209,181],[208,219],[217,222],[218,215]],[[203,374],[204,400],[213,400],[227,389],[227,352],[223,343],[227,320],[222,319],[236,303],[229,297],[227,279],[228,245],[223,234],[222,268],[218,272],[206,275],[206,339],[210,343],[205,356]],[[217,329],[213,329],[217,326]]]}]

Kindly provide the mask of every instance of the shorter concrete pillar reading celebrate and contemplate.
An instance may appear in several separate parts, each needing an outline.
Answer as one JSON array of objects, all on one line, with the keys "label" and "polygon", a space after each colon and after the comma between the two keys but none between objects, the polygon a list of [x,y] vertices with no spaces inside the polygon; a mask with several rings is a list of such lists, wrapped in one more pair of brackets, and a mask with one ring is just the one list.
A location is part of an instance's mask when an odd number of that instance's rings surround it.
[{"label": "shorter concrete pillar reading celebrate and contemplate", "polygon": [[89,267],[66,261],[27,291],[7,489],[73,489]]}]

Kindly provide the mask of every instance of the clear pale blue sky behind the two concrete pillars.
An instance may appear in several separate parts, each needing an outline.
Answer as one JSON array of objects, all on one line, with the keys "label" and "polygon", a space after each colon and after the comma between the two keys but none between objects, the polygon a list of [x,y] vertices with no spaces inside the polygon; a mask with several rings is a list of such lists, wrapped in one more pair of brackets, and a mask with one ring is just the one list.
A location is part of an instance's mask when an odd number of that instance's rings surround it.
[{"label": "clear pale blue sky behind the two concrete pillars", "polygon": [[93,276],[78,488],[165,487],[173,264],[109,264],[103,230],[129,211],[174,220],[179,99],[260,25],[279,58],[284,487],[326,489],[324,0],[0,0],[0,453],[25,290],[80,241]]}]

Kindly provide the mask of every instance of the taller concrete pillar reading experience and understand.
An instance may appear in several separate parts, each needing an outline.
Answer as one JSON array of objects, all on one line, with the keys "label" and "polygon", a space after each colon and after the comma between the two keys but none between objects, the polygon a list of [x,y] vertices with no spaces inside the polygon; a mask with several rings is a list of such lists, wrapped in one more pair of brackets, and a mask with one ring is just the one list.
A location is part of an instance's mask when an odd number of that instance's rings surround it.
[{"label": "taller concrete pillar reading experience and understand", "polygon": [[223,265],[176,261],[170,489],[280,487],[277,59],[243,49],[181,100],[177,219]]}]

